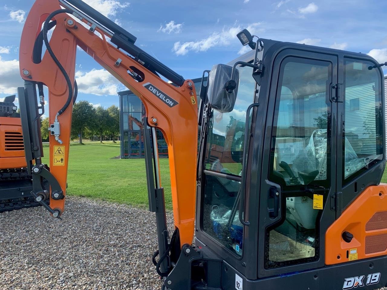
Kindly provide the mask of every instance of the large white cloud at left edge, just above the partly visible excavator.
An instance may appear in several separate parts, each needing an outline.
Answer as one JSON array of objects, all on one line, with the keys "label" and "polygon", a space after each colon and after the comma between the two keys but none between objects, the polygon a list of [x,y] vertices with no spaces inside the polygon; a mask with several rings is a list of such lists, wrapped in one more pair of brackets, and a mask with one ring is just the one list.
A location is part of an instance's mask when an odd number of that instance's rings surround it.
[{"label": "large white cloud at left edge, just above the partly visible excavator", "polygon": [[18,60],[2,60],[0,56],[0,93],[15,94],[17,87],[23,86],[23,80],[19,73]]}]

